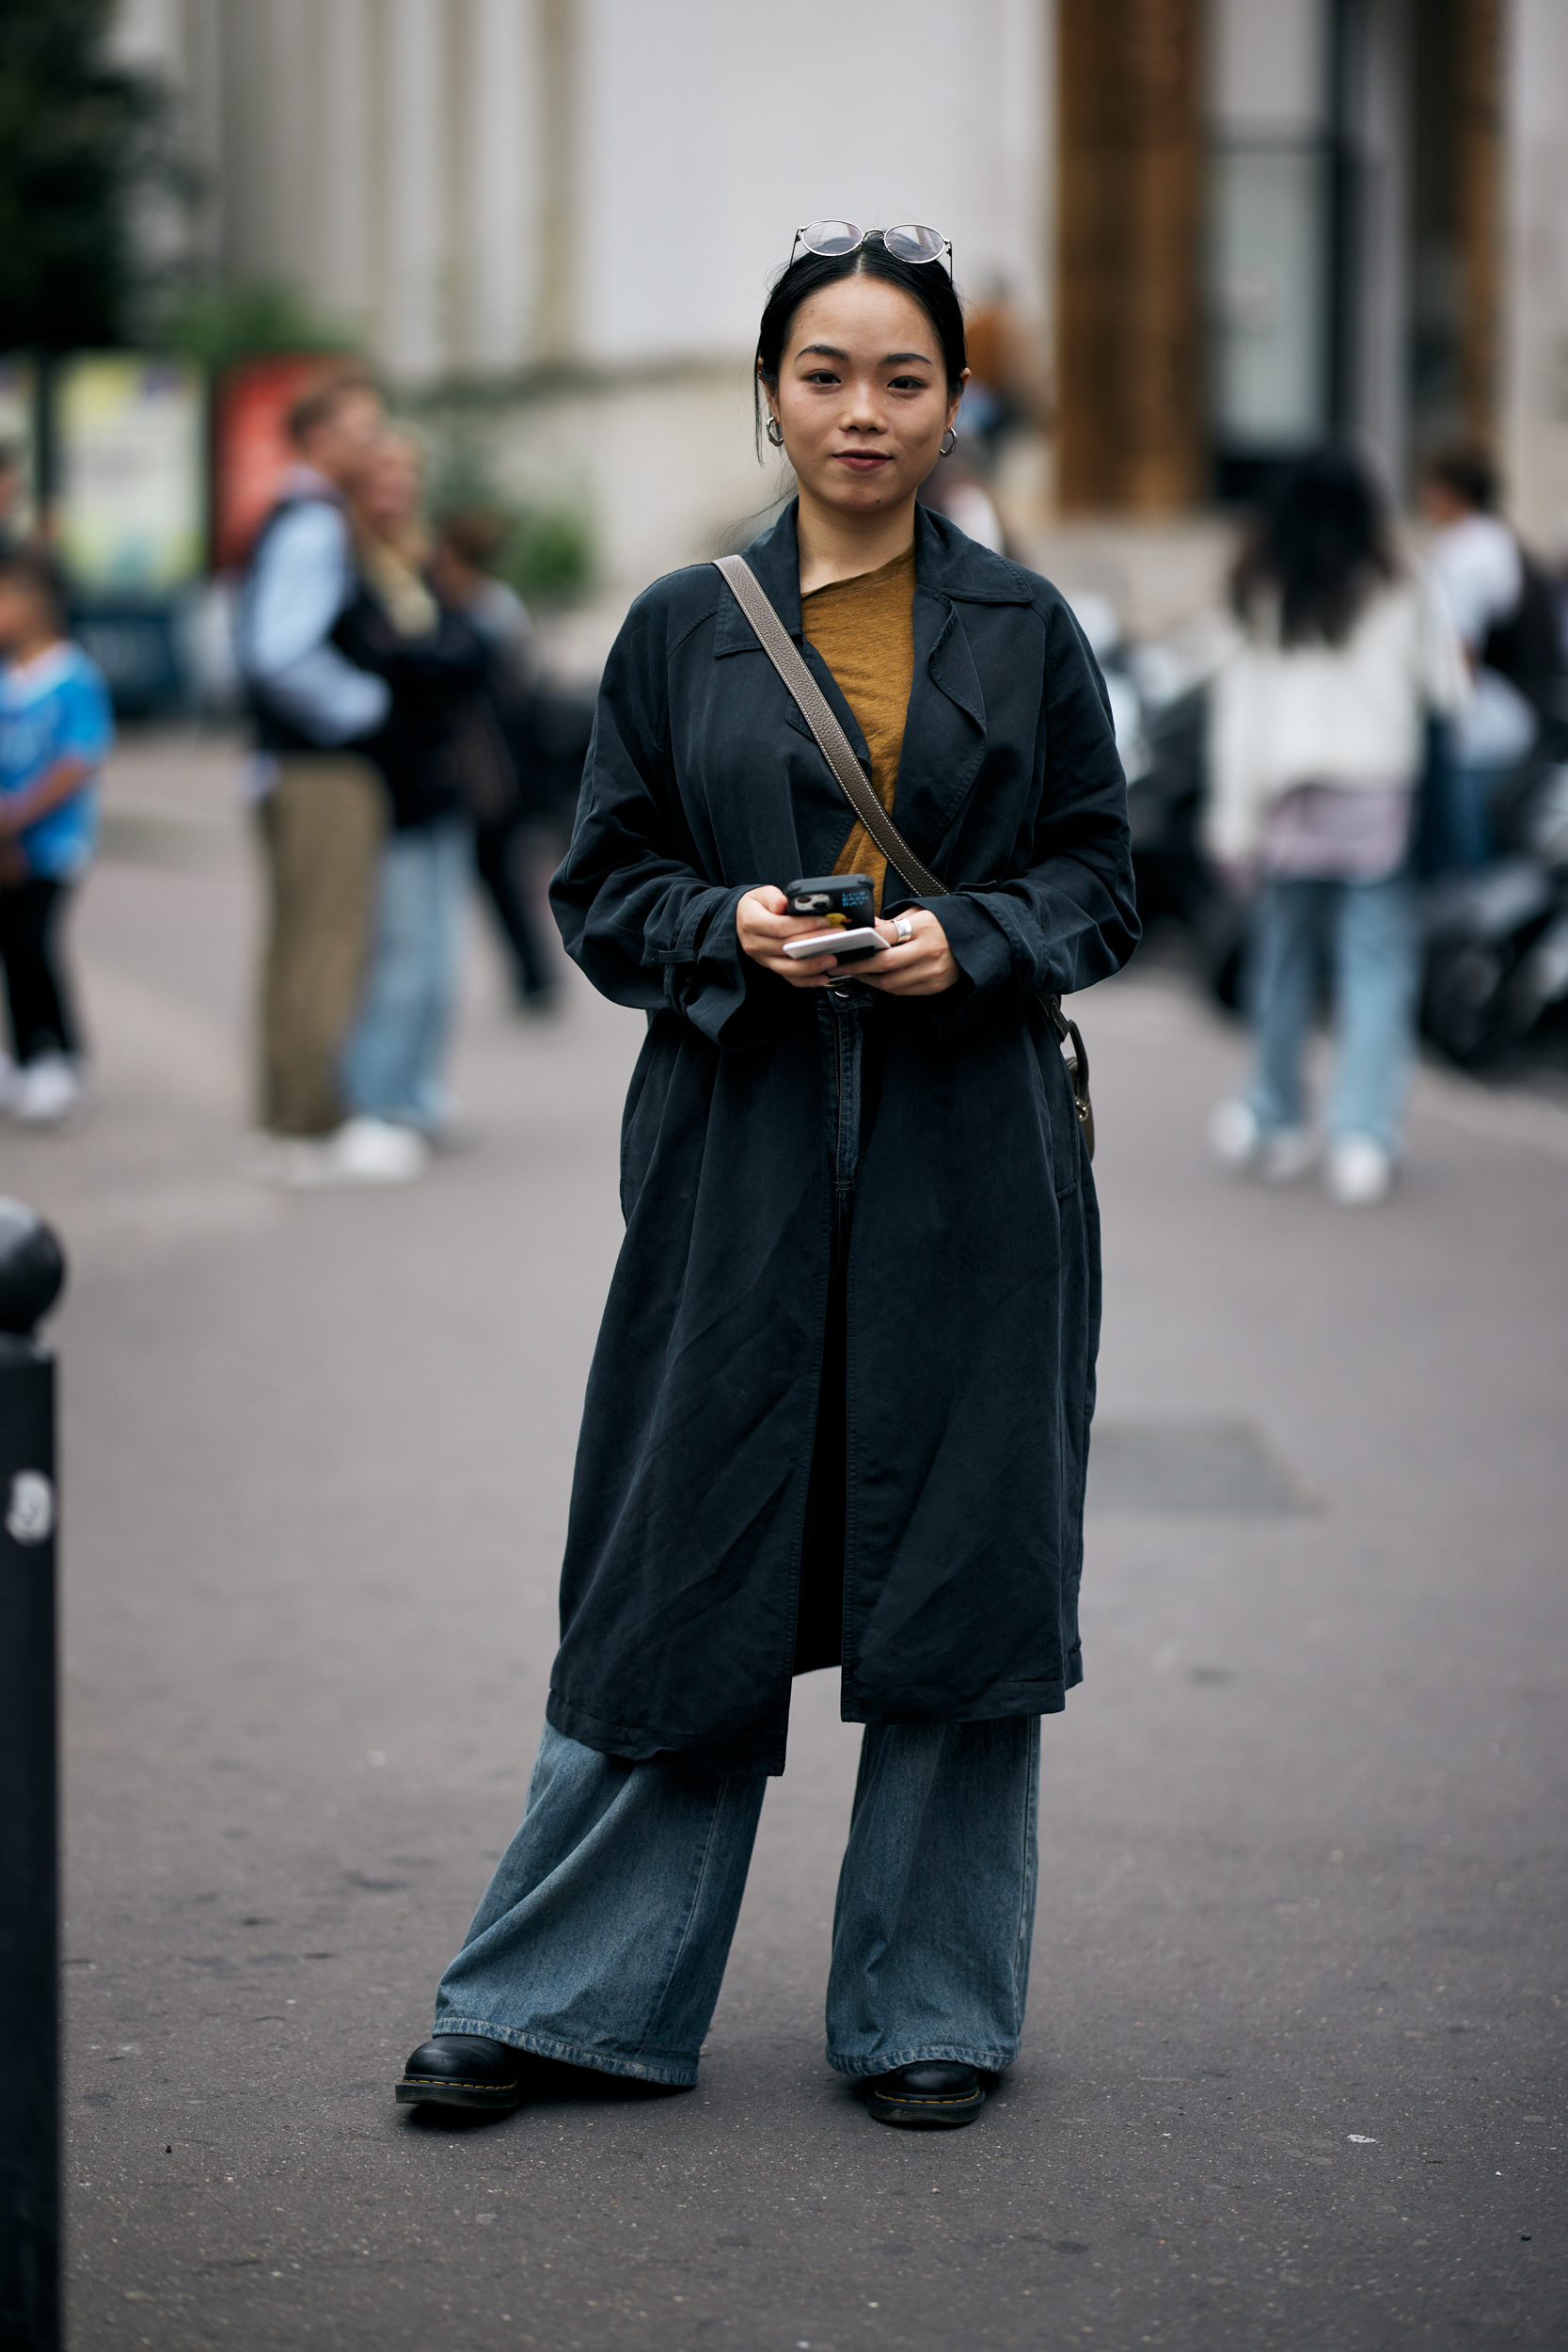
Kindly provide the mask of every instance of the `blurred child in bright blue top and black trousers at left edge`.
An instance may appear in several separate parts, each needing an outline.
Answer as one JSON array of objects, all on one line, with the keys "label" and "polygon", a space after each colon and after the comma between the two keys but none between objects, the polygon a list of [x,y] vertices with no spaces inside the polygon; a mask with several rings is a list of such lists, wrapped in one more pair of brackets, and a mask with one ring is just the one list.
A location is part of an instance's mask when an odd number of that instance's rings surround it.
[{"label": "blurred child in bright blue top and black trousers at left edge", "polygon": [[33,1127],[63,1120],[82,1091],[59,927],[96,847],[110,743],[108,691],[66,635],[56,567],[42,548],[0,548],[0,962],[14,1054],[0,1054],[0,1110]]}]

